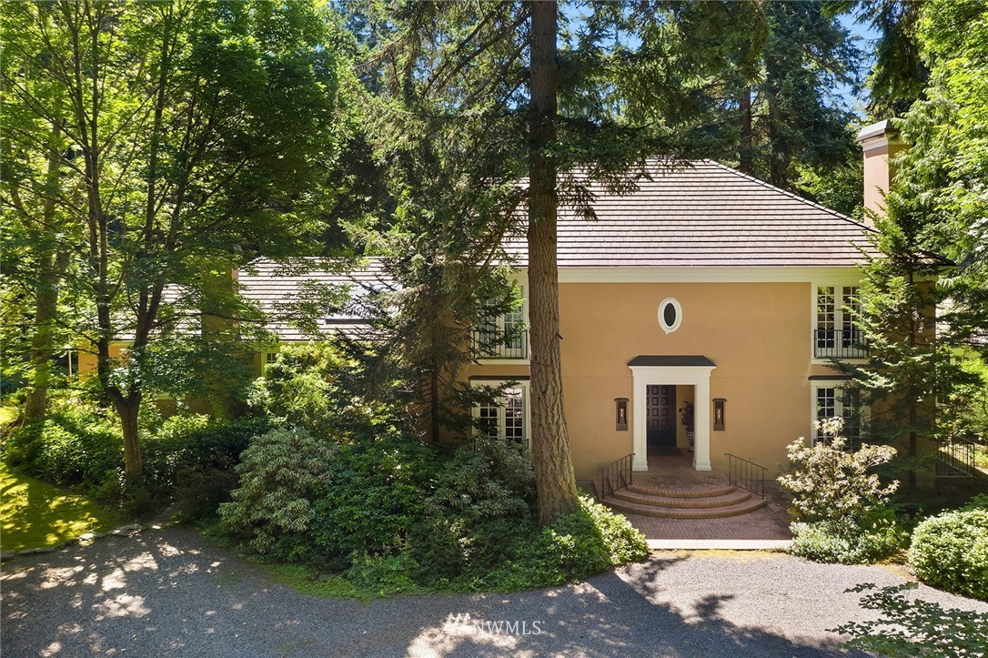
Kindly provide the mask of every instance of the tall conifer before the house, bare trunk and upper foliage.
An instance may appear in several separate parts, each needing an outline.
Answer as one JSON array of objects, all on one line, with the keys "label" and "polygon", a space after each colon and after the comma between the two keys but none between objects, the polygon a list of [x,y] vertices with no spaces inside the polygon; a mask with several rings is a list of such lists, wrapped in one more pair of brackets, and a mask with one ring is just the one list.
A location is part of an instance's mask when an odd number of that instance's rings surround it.
[{"label": "tall conifer before the house, bare trunk and upper foliage", "polygon": [[[373,45],[365,84],[402,118],[398,125],[428,121],[431,134],[444,135],[425,149],[427,161],[440,164],[434,171],[443,172],[435,179],[442,187],[433,188],[443,193],[438,207],[477,212],[488,226],[493,220],[499,230],[492,236],[507,232],[505,219],[521,218],[516,208],[528,211],[521,230],[528,242],[533,458],[540,518],[548,524],[577,507],[562,416],[557,210],[589,217],[591,183],[630,189],[644,158],[676,160],[708,143],[698,128],[714,104],[705,76],[728,53],[738,54],[734,46],[744,40],[737,25],[760,24],[761,10],[749,3],[573,3],[560,12],[554,2],[379,10],[366,6],[350,21]],[[399,143],[422,153],[413,146],[422,134],[404,131]],[[465,152],[485,163],[482,181],[495,188],[493,196],[456,185],[476,181],[446,168]],[[499,211],[489,213],[495,206],[485,199],[498,197]]]}]

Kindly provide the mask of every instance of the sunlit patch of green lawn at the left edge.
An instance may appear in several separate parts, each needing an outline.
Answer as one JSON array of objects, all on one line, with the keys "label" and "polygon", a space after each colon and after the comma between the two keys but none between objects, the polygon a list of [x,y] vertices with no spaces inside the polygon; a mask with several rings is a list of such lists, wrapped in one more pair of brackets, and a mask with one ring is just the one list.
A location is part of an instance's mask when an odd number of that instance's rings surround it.
[{"label": "sunlit patch of green lawn at the left edge", "polygon": [[0,549],[54,546],[90,531],[106,532],[124,523],[85,496],[0,466]]}]

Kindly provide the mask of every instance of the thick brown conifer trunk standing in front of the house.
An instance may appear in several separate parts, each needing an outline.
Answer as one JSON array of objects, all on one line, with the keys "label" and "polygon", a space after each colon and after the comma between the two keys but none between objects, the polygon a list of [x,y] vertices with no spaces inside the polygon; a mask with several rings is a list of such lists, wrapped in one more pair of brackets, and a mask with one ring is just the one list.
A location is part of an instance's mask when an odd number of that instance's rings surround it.
[{"label": "thick brown conifer trunk standing in front of the house", "polygon": [[553,2],[532,2],[532,114],[529,148],[529,314],[532,321],[532,461],[538,521],[577,509],[576,479],[563,416],[556,267],[556,18]]}]

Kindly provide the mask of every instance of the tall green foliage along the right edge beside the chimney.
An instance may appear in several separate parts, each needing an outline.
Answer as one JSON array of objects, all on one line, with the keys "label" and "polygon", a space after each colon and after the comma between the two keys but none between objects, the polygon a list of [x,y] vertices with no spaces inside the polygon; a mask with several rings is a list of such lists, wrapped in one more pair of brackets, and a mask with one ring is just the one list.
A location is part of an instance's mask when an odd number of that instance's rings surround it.
[{"label": "tall green foliage along the right edge beside the chimney", "polygon": [[919,438],[950,439],[978,397],[972,387],[985,386],[958,356],[983,354],[988,333],[986,18],[978,2],[922,6],[917,35],[930,83],[897,122],[911,146],[894,161],[885,213],[875,217],[880,255],[865,270],[860,325],[872,356],[852,371],[879,403],[877,433],[907,442],[910,471]]}]

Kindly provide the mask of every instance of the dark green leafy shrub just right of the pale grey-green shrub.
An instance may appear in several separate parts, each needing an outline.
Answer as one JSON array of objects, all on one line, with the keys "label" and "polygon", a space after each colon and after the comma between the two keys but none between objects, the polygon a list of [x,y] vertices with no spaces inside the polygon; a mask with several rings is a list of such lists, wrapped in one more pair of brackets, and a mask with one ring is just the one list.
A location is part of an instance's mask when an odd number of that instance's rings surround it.
[{"label": "dark green leafy shrub just right of the pale grey-green shrub", "polygon": [[434,488],[436,452],[392,434],[340,446],[335,459],[314,501],[316,545],[331,556],[396,551]]}]

